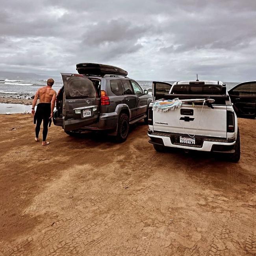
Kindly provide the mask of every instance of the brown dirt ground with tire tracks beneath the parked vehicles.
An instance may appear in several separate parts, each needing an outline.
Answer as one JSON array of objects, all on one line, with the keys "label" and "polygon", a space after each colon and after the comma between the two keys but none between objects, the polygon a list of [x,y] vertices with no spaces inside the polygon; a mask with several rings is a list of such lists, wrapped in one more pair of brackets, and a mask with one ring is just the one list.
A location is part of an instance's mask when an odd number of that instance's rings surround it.
[{"label": "brown dirt ground with tire tracks beneath the parked vehicles", "polygon": [[157,153],[147,126],[125,143],[0,115],[0,255],[256,255],[256,127],[241,160]]}]

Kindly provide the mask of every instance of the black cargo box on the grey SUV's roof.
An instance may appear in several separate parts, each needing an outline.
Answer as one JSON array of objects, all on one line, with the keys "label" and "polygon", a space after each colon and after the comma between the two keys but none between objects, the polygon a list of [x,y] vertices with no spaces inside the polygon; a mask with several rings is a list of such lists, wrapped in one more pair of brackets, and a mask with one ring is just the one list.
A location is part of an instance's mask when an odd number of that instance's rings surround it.
[{"label": "black cargo box on the grey SUV's roof", "polygon": [[79,63],[76,64],[76,70],[79,74],[83,75],[96,75],[96,76],[104,76],[106,74],[110,75],[121,75],[127,76],[128,72],[120,69],[119,67],[98,64],[98,63]]}]

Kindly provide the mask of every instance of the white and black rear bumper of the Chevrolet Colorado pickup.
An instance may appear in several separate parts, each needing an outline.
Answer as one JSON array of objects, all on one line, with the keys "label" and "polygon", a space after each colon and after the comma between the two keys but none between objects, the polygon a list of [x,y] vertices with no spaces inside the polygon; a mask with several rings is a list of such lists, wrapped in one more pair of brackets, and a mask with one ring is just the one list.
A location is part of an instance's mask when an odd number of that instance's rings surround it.
[{"label": "white and black rear bumper of the Chevrolet Colorado pickup", "polygon": [[236,145],[235,139],[195,136],[197,145],[184,145],[174,142],[175,137],[188,137],[185,134],[171,134],[167,132],[148,132],[149,143],[163,145],[165,147],[183,148],[188,150],[233,153]]}]

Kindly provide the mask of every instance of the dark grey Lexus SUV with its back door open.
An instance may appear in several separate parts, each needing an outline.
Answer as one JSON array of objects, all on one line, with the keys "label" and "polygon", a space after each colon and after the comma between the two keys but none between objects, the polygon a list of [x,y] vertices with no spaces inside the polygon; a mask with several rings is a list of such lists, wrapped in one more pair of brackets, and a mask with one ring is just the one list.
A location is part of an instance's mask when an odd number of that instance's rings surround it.
[{"label": "dark grey Lexus SUV with its back door open", "polygon": [[148,91],[127,76],[61,74],[54,124],[69,135],[86,130],[108,131],[125,141],[130,124],[144,119],[152,101]]}]

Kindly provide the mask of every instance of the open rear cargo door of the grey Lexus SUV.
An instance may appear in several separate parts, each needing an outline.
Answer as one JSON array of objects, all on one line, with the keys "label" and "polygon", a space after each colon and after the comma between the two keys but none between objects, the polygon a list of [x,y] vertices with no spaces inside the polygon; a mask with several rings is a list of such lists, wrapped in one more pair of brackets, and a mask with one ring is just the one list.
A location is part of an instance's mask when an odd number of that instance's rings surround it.
[{"label": "open rear cargo door of the grey Lexus SUV", "polygon": [[89,126],[100,115],[100,80],[76,74],[61,74],[65,89],[63,129],[65,132]]}]

